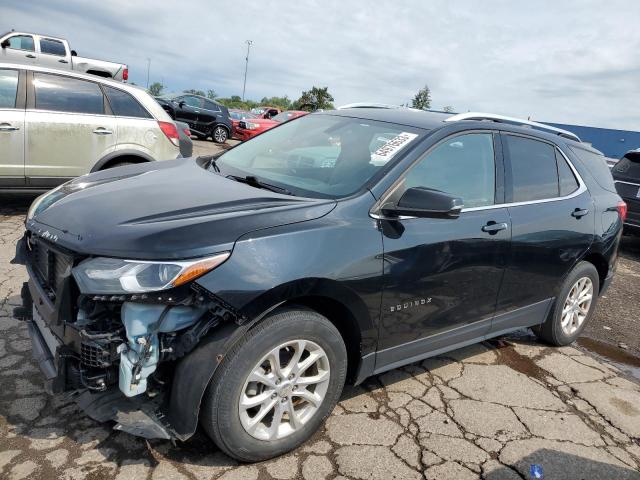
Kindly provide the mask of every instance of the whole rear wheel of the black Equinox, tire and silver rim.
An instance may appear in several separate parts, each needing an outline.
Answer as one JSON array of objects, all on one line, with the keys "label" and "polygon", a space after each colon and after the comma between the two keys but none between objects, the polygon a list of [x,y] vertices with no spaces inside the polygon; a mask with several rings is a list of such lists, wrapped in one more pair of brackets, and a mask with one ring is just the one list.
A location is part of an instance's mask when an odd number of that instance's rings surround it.
[{"label": "whole rear wheel of the black Equinox, tire and silver rim", "polygon": [[573,343],[593,316],[598,303],[600,277],[589,262],[580,262],[567,276],[549,317],[533,329],[552,345]]}]

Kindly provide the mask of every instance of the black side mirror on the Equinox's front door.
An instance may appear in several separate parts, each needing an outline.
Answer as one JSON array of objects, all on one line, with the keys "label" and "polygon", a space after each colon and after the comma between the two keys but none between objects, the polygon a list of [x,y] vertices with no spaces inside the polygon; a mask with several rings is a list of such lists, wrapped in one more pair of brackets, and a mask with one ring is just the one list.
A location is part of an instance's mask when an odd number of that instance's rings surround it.
[{"label": "black side mirror on the Equinox's front door", "polygon": [[404,192],[397,204],[384,205],[382,213],[390,217],[458,218],[462,207],[459,197],[439,190],[414,187]]}]

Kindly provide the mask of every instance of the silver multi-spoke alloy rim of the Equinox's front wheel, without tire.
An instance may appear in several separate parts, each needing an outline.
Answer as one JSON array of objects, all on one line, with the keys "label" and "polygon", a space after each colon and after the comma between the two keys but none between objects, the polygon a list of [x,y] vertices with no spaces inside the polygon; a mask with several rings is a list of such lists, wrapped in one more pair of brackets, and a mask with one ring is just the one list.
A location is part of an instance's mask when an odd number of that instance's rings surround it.
[{"label": "silver multi-spoke alloy rim of the Equinox's front wheel, without tire", "polygon": [[329,359],[318,344],[292,340],[267,353],[247,377],[238,410],[245,431],[276,440],[315,415],[329,387]]}]

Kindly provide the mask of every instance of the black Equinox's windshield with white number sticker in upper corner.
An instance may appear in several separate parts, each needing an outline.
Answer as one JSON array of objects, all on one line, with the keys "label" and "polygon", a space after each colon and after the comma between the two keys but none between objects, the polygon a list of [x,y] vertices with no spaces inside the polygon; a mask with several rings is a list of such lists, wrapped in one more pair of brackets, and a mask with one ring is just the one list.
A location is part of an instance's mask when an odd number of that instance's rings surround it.
[{"label": "black Equinox's windshield with white number sticker in upper corner", "polygon": [[223,154],[223,175],[254,176],[295,195],[350,195],[415,144],[423,130],[314,114],[268,130]]}]

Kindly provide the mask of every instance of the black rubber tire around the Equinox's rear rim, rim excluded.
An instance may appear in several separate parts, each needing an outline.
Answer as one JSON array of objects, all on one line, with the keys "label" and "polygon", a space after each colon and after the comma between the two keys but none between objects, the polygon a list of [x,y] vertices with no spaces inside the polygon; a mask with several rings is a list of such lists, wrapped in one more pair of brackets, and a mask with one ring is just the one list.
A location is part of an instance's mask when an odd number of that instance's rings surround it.
[{"label": "black rubber tire around the Equinox's rear rim, rim excluded", "polygon": [[[588,277],[593,284],[593,297],[591,299],[591,305],[589,306],[588,313],[584,321],[580,324],[576,331],[571,334],[565,332],[562,328],[562,310],[565,305],[565,301],[571,292],[571,288],[581,278]],[[593,312],[598,304],[598,293],[600,292],[600,277],[598,271],[589,262],[580,262],[574,267],[574,269],[567,275],[567,278],[562,284],[558,296],[554,302],[553,308],[549,312],[547,320],[532,330],[536,336],[546,343],[561,347],[573,343],[584,330],[585,325],[589,322],[593,316]]]}]

